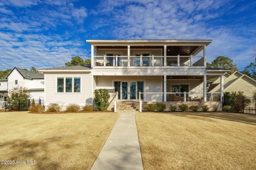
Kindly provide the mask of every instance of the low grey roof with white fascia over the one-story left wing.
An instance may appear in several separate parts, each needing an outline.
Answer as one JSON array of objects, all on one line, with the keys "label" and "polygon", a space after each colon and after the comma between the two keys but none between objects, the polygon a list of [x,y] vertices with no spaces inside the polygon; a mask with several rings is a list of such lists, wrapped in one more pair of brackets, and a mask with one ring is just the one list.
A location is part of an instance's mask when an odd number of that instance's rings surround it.
[{"label": "low grey roof with white fascia over the one-story left wing", "polygon": [[91,71],[91,65],[73,65],[73,66],[63,66],[63,67],[55,67],[50,69],[41,69],[40,72],[47,71]]}]

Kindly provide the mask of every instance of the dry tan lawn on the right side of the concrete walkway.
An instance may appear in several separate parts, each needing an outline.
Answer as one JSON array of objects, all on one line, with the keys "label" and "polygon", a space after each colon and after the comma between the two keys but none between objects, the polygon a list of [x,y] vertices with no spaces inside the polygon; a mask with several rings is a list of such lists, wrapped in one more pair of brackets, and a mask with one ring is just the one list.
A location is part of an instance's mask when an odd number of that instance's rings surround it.
[{"label": "dry tan lawn on the right side of the concrete walkway", "polygon": [[255,169],[256,115],[141,113],[145,169]]}]

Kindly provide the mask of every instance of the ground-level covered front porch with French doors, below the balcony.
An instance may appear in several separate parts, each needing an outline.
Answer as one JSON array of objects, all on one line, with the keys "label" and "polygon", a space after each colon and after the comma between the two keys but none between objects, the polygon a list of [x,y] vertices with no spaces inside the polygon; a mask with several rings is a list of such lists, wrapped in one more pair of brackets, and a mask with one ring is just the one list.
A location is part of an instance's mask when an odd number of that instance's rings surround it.
[{"label": "ground-level covered front porch with French doors, below the balcony", "polygon": [[[141,105],[151,102],[180,104],[221,104],[223,91],[206,92],[207,81],[219,75],[94,75],[94,89],[108,89],[110,107],[134,101]],[[223,79],[223,78],[222,78]],[[223,83],[220,84],[222,87]]]}]

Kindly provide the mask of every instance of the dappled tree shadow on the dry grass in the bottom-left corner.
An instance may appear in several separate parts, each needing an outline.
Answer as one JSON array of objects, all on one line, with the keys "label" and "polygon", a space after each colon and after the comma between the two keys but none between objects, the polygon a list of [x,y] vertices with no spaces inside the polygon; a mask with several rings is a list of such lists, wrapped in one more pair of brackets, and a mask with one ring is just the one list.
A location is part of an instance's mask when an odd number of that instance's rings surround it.
[{"label": "dappled tree shadow on the dry grass in the bottom-left corner", "polygon": [[[29,166],[33,166],[35,169],[58,169],[60,165],[58,162],[54,161],[54,158],[49,156],[48,146],[52,143],[60,142],[61,139],[61,137],[53,137],[39,142],[22,139],[7,141],[0,143],[0,150],[6,147],[9,148],[10,152],[7,157],[4,158],[5,160],[36,160],[36,165]],[[11,168],[13,166],[14,165],[2,165],[0,166],[0,169]],[[24,165],[16,166],[22,167]]]}]

